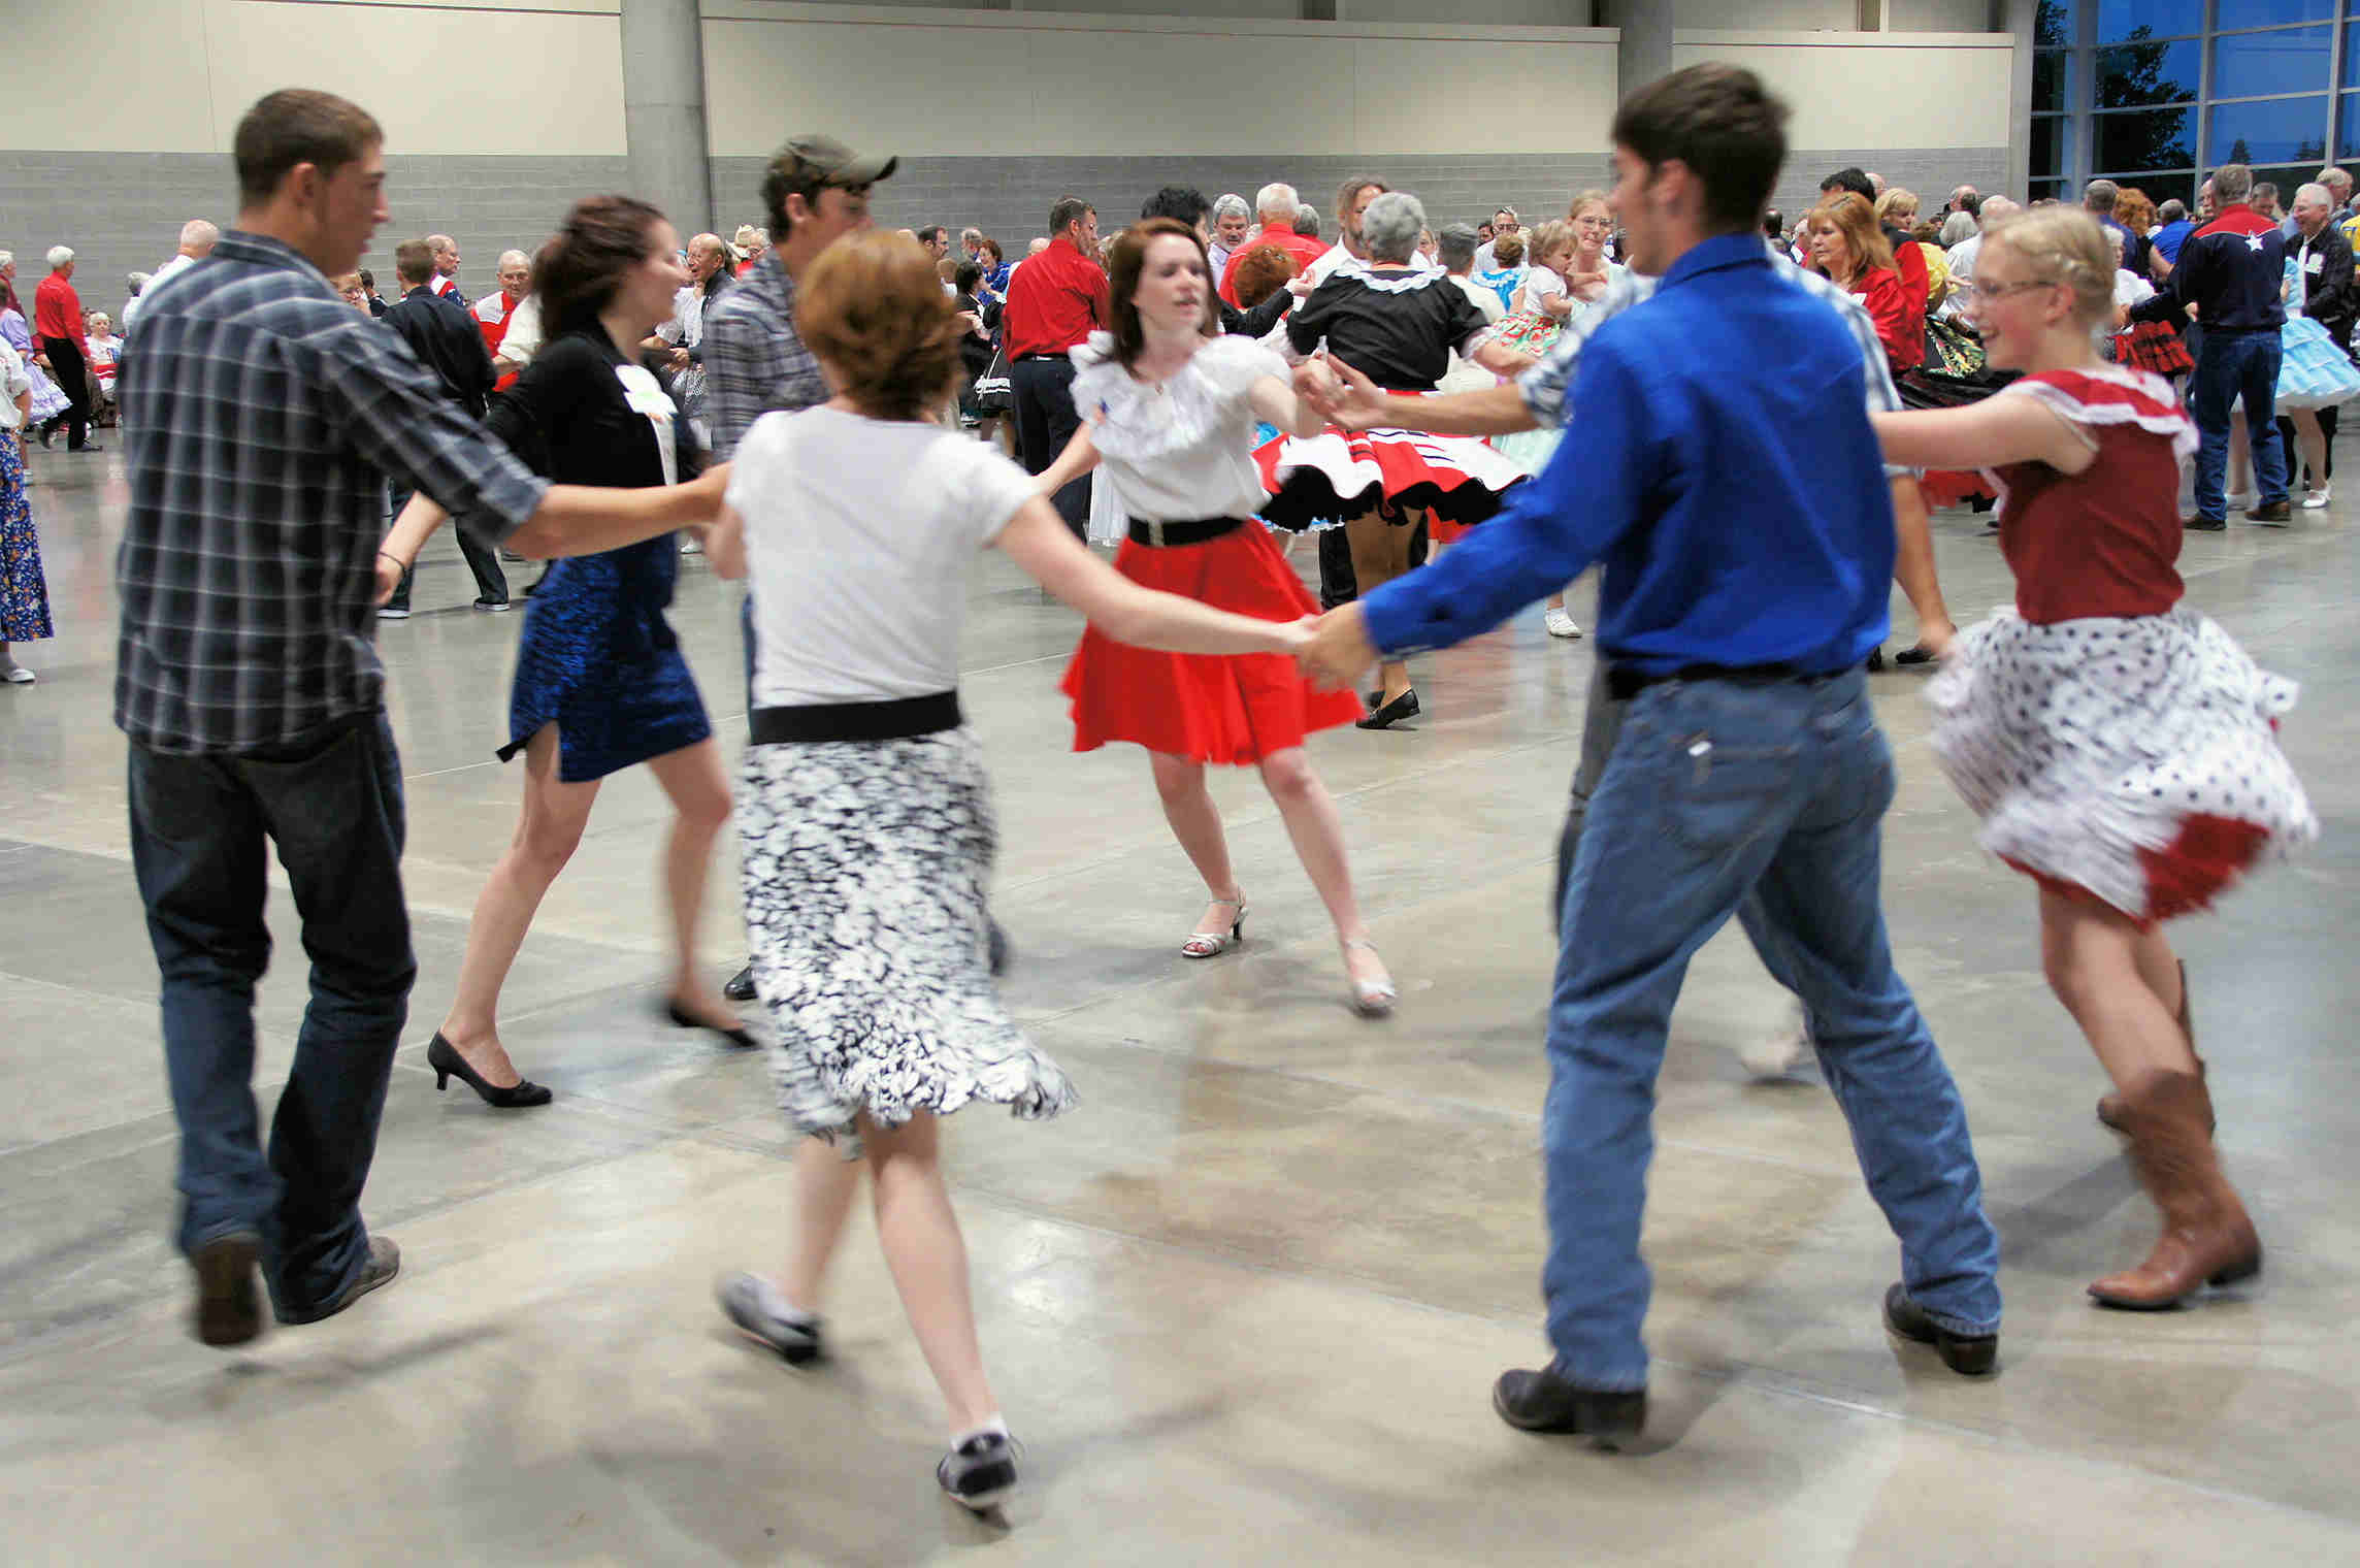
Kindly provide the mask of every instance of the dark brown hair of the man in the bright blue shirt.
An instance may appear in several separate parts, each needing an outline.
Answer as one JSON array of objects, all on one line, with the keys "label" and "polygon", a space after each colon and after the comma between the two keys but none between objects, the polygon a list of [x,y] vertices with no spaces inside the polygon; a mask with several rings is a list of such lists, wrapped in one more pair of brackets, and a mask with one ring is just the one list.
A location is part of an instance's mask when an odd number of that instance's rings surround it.
[{"label": "dark brown hair of the man in the bright blue shirt", "polygon": [[1742,66],[1687,66],[1626,97],[1612,135],[1650,168],[1685,163],[1704,184],[1704,217],[1751,231],[1787,163],[1787,104]]}]

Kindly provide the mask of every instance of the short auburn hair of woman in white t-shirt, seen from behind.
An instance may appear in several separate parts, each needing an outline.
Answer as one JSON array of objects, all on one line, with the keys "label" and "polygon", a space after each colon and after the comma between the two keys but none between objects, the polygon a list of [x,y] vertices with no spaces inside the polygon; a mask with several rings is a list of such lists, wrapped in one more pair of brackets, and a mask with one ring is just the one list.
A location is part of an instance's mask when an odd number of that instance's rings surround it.
[{"label": "short auburn hair of woman in white t-shirt, seen from behind", "polygon": [[871,418],[918,420],[958,378],[958,316],[925,246],[868,229],[812,262],[795,300],[805,347]]}]

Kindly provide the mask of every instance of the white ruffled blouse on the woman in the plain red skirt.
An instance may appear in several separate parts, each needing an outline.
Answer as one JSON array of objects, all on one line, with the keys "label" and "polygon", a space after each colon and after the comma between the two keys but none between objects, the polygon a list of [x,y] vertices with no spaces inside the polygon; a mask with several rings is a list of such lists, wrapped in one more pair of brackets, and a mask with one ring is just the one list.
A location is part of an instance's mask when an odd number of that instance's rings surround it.
[{"label": "white ruffled blouse on the woman in the plain red skirt", "polygon": [[1071,349],[1074,409],[1090,420],[1100,482],[1142,522],[1253,517],[1263,477],[1253,465],[1253,383],[1286,380],[1286,361],[1251,338],[1206,338],[1171,380],[1138,380],[1114,359],[1114,338]]}]

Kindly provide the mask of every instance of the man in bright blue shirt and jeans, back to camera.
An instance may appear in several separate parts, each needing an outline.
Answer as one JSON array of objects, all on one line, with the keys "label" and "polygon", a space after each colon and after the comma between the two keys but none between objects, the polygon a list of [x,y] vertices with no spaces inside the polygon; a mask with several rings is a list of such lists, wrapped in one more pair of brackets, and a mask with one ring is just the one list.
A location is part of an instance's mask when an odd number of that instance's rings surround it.
[{"label": "man in bright blue shirt and jeans, back to camera", "polygon": [[1886,635],[1895,534],[1862,349],[1753,236],[1784,120],[1732,66],[1624,102],[1614,215],[1661,286],[1591,335],[1551,465],[1442,562],[1331,612],[1307,654],[1348,682],[1605,564],[1598,645],[1628,706],[1588,801],[1548,1015],[1555,1358],[1503,1374],[1492,1403],[1515,1426],[1607,1445],[1647,1410],[1638,1237],[1671,1006],[1739,909],[1810,1008],[1900,1235],[1886,1325],[1959,1372],[1989,1372],[1999,1344],[1999,1237],[1966,1110],[1879,904],[1893,756],[1860,664]]}]

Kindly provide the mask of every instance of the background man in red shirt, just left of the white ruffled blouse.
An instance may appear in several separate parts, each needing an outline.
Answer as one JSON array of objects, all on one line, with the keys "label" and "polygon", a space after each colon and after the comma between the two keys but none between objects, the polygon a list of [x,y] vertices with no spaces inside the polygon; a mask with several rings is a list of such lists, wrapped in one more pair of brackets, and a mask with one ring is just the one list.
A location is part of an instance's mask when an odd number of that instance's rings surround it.
[{"label": "background man in red shirt, just left of the white ruffled blouse", "polygon": [[[1074,361],[1067,349],[1107,326],[1107,272],[1097,264],[1097,208],[1067,196],[1048,213],[1050,241],[1008,279],[1001,340],[1017,406],[1024,472],[1038,475],[1081,430],[1074,413]],[[1055,496],[1074,538],[1090,534],[1090,475]]]}]

